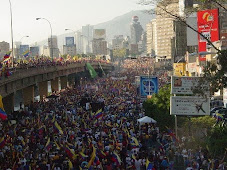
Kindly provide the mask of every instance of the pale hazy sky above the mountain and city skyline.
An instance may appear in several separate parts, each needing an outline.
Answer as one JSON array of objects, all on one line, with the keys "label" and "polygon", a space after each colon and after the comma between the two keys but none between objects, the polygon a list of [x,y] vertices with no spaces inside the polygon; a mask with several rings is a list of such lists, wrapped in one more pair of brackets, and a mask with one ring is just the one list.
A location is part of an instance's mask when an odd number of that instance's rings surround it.
[{"label": "pale hazy sky above the mountain and city skyline", "polygon": [[[98,24],[132,10],[145,9],[139,0],[11,0],[14,41],[24,44],[46,39],[51,22],[53,35],[65,33],[65,28],[80,29],[86,24]],[[0,0],[0,41],[11,41],[9,0]]]}]

